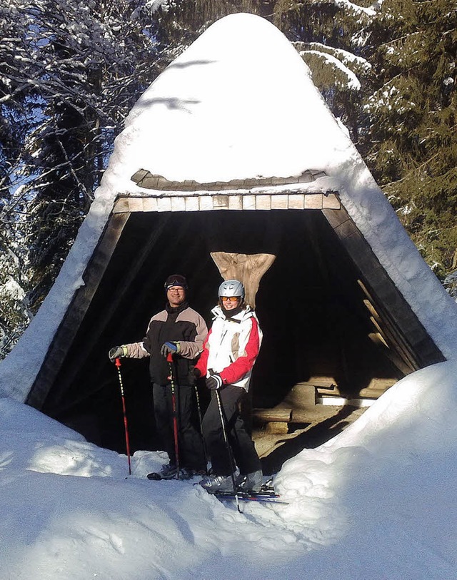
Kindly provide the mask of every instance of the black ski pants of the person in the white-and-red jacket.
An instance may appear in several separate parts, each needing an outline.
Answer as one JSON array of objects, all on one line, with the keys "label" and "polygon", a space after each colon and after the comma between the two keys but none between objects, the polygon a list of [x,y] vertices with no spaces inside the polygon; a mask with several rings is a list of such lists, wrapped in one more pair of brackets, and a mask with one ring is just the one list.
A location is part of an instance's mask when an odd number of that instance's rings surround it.
[{"label": "black ski pants of the person in the white-and-red jacket", "polygon": [[[234,385],[226,385],[226,387],[219,390],[227,439],[229,439],[233,459],[243,475],[261,469],[261,462],[253,440],[248,434],[239,412],[238,404],[245,393],[246,391],[243,388],[235,387]],[[211,401],[202,421],[202,429],[214,474],[230,475],[233,467],[224,440],[221,414],[215,391],[211,392]]]}]

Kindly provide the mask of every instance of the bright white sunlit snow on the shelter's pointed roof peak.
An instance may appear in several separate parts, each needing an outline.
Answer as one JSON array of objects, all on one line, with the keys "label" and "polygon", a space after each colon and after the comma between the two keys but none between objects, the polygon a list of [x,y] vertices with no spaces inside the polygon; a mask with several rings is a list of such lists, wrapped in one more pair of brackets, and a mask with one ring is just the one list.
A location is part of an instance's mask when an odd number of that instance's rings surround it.
[{"label": "bright white sunlit snow on the shelter's pointed roof peak", "polygon": [[[200,183],[326,171],[351,145],[275,26],[232,14],[151,84],[126,119],[108,170]],[[130,183],[126,188],[134,188]]]}]

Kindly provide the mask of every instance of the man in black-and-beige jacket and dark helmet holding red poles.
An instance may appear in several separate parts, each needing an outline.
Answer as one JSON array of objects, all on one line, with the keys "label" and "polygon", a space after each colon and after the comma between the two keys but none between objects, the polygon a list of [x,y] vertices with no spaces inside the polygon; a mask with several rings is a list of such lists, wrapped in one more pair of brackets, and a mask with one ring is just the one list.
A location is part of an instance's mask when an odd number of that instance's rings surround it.
[{"label": "man in black-and-beige jacket and dark helmet holding red poles", "polygon": [[118,357],[149,357],[156,427],[170,459],[169,464],[162,466],[162,479],[172,479],[178,472],[171,376],[169,362],[166,360],[169,353],[174,359],[172,368],[178,414],[179,478],[188,479],[196,472],[206,471],[203,442],[191,422],[194,386],[189,381],[189,370],[202,350],[208,328],[199,313],[189,307],[186,300],[187,288],[184,276],[169,276],[165,282],[165,309],[151,318],[144,340],[114,347],[109,351],[111,361]]}]

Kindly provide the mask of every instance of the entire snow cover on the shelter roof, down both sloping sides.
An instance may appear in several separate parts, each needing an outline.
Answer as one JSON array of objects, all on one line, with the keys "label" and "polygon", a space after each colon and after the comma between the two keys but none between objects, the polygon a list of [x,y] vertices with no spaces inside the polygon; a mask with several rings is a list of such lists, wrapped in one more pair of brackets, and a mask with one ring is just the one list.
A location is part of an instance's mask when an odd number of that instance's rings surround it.
[{"label": "entire snow cover on the shelter roof, down both sloping sides", "polygon": [[[233,14],[176,58],[126,118],[54,287],[0,366],[7,394],[24,400],[29,392],[75,290],[84,284],[84,269],[116,196],[167,195],[139,188],[131,180],[139,169],[199,183],[326,173],[311,184],[313,190],[338,190],[438,348],[446,357],[454,355],[457,305],[423,262],[347,131],[313,85],[308,67],[268,21]],[[309,190],[310,184],[302,187]]]}]

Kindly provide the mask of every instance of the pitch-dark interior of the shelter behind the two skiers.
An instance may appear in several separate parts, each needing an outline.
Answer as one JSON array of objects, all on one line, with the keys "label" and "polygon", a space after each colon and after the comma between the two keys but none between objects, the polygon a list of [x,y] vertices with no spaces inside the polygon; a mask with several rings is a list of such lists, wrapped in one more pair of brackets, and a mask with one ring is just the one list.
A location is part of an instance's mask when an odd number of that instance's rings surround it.
[{"label": "pitch-dark interior of the shelter behind the two skiers", "polygon": [[[214,251],[276,255],[256,296],[263,344],[252,407],[278,405],[311,376],[334,377],[349,398],[373,377],[401,377],[368,337],[361,273],[321,211],[131,213],[41,410],[89,441],[125,452],[109,348],[142,340],[151,315],[164,307],[171,273],[186,275],[190,305],[210,326],[222,281]],[[123,359],[121,373],[131,452],[158,449],[148,360]],[[204,411],[204,384],[199,392]]]}]

